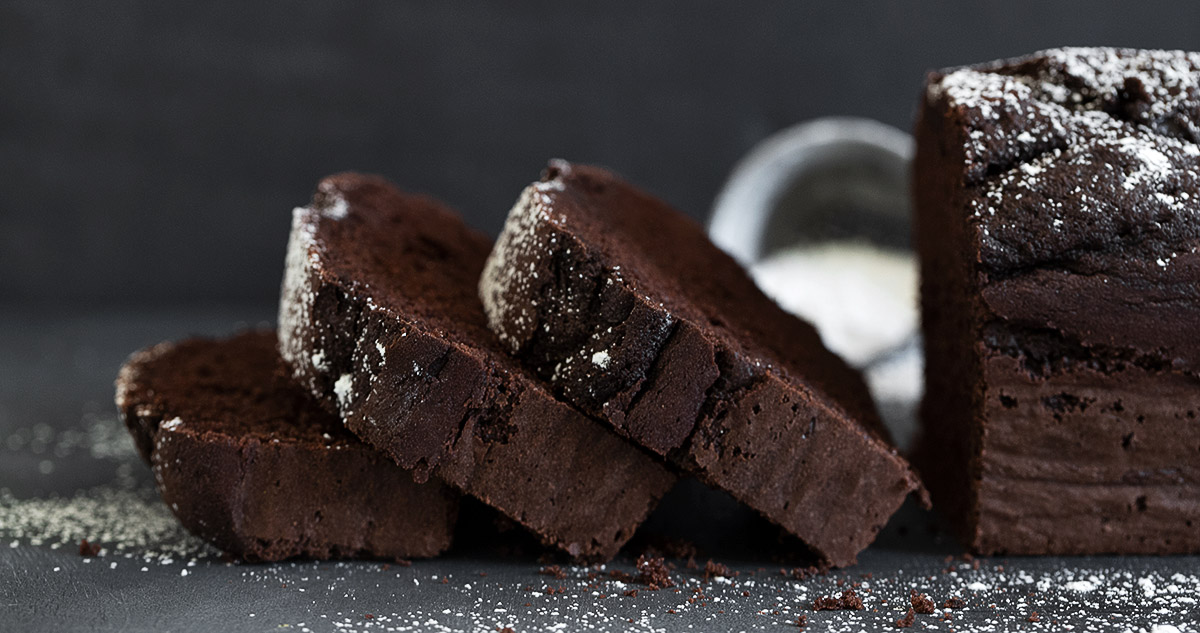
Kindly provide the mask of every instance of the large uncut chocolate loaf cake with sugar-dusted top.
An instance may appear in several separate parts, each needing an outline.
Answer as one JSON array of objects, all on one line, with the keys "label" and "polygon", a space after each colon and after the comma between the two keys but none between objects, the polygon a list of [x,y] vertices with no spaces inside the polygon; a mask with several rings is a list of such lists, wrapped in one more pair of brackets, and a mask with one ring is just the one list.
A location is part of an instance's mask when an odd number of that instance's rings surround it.
[{"label": "large uncut chocolate loaf cake with sugar-dusted top", "polygon": [[1200,551],[1200,55],[932,73],[918,465],[983,554]]}]

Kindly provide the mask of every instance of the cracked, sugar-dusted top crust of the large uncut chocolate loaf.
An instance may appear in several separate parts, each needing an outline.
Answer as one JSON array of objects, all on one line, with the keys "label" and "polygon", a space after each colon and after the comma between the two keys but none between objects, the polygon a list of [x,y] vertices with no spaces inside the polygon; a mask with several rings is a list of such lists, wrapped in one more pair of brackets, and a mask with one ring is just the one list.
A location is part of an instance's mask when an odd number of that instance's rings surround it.
[{"label": "cracked, sugar-dusted top crust of the large uncut chocolate loaf", "polygon": [[1200,243],[1200,54],[1045,50],[932,73],[926,102],[962,134],[989,272],[1162,269]]}]

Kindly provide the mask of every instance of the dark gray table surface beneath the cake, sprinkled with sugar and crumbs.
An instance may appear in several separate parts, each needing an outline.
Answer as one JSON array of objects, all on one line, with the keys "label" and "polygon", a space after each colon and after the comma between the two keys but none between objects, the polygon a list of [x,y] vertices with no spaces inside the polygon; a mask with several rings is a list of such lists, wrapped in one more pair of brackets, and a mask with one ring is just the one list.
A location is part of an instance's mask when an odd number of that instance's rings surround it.
[{"label": "dark gray table surface beneath the cake, sprinkled with sugar and crumbs", "polygon": [[[931,514],[906,507],[858,566],[796,580],[761,522],[695,483],[640,537],[686,537],[701,567],[712,556],[734,578],[706,580],[677,560],[677,587],[623,584],[608,572],[632,571],[631,547],[559,579],[539,574],[545,553],[502,555],[486,537],[410,566],[227,562],[157,500],[112,381],[137,348],[272,318],[236,306],[0,309],[0,631],[794,631],[802,615],[808,631],[890,631],[911,590],[966,601],[949,621],[943,609],[918,615],[914,629],[1200,631],[1196,556],[970,561]],[[104,549],[82,556],[80,538]],[[864,610],[812,610],[856,583]]]}]

